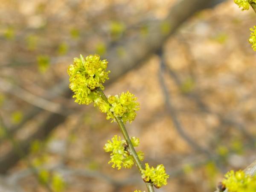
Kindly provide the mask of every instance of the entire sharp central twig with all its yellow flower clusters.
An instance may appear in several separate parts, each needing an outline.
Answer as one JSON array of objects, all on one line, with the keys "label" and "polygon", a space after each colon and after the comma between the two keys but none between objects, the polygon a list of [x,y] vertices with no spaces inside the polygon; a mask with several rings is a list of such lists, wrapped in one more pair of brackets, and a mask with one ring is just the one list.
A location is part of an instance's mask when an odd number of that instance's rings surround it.
[{"label": "entire sharp central twig with all its yellow flower clusters", "polygon": [[100,60],[99,55],[89,55],[85,58],[80,55],[80,58],[74,58],[74,63],[67,70],[70,76],[70,89],[74,92],[75,102],[85,105],[94,102],[94,106],[99,107],[102,113],[107,113],[106,119],[113,119],[111,122],[118,123],[125,140],[115,135],[105,144],[104,150],[111,152],[111,160],[108,163],[112,163],[112,167],[117,169],[131,168],[136,163],[148,191],[152,192],[153,185],[157,188],[166,185],[169,175],[166,174],[163,165],[150,168],[148,163],[145,163],[143,168],[141,161],[144,159],[144,154],[134,149],[139,145],[140,140],[137,137],[130,139],[124,125],[135,119],[140,104],[129,91],[120,95],[105,96],[102,83],[108,79],[110,73],[106,70],[107,65],[108,61]]}]

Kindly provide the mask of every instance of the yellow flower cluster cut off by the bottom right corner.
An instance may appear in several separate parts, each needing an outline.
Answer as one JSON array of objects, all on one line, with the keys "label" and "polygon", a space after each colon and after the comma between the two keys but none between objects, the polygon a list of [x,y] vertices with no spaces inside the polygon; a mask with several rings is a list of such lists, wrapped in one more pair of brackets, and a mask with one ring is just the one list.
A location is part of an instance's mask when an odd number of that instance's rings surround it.
[{"label": "yellow flower cluster cut off by the bottom right corner", "polygon": [[229,192],[256,192],[256,176],[246,175],[241,170],[227,172],[222,183]]}]

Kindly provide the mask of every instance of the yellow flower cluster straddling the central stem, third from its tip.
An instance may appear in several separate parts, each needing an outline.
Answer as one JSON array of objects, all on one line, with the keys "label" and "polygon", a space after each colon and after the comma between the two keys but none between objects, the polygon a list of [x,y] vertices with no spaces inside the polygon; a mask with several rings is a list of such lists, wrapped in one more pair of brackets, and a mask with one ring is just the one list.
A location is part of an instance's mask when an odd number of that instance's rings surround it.
[{"label": "yellow flower cluster straddling the central stem, third from its tip", "polygon": [[[139,143],[139,139],[136,137],[132,137]],[[125,140],[121,140],[121,137],[117,137],[115,135],[111,140],[108,140],[108,143],[105,144],[104,150],[106,152],[112,152],[110,154],[111,160],[108,163],[113,163],[112,167],[117,169],[121,169],[121,167],[124,168],[131,168],[134,165],[134,160],[132,156],[129,154],[129,151],[127,149],[127,145]],[[144,154],[141,151],[138,151],[138,157],[140,160],[143,160]]]}]

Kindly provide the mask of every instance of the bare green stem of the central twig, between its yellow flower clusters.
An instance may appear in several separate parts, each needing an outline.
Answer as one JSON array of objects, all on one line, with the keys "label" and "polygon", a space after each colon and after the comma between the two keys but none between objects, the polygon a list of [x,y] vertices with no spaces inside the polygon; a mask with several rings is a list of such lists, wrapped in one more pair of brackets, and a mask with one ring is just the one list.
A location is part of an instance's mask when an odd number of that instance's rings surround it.
[{"label": "bare green stem of the central twig, between its yellow flower clusters", "polygon": [[[95,91],[99,94],[99,96],[100,96],[105,102],[109,103],[107,96],[105,95],[105,93],[102,91],[102,89],[101,89],[100,87],[97,87],[97,88],[95,89]],[[110,105],[110,104],[109,104],[109,105]],[[140,174],[142,175],[142,170],[144,169],[144,167],[143,167],[143,165],[142,165],[142,163],[141,163],[141,161],[140,161],[140,159],[139,159],[139,157],[138,157],[137,152],[136,152],[135,149],[134,149],[134,146],[133,146],[132,143],[131,143],[131,140],[130,140],[129,134],[128,134],[126,128],[125,128],[125,125],[124,125],[124,123],[123,123],[123,121],[122,121],[122,119],[121,119],[120,117],[115,116],[115,119],[116,119],[116,122],[117,122],[117,124],[119,125],[119,128],[120,128],[120,130],[121,130],[121,132],[122,132],[122,134],[123,134],[123,136],[124,136],[124,138],[125,138],[125,141],[126,141],[126,143],[127,143],[127,145],[128,145],[129,152],[130,152],[131,156],[133,157],[133,159],[134,159],[134,161],[135,161],[135,163],[136,163],[136,166],[137,166],[137,168],[138,168],[139,171],[140,171]],[[145,182],[145,184],[146,184],[146,186],[147,186],[148,192],[154,192],[153,183],[147,183],[147,182]]]}]

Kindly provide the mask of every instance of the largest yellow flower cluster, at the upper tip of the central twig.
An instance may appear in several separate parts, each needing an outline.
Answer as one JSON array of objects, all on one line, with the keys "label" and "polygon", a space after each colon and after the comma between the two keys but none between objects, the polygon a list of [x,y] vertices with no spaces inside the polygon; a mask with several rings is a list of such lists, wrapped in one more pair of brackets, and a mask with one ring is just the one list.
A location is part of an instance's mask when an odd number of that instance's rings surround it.
[{"label": "largest yellow flower cluster, at the upper tip of the central twig", "polygon": [[75,93],[73,98],[79,104],[90,104],[95,99],[92,90],[96,87],[104,89],[102,83],[108,79],[106,71],[107,60],[100,60],[99,55],[89,55],[84,58],[74,58],[74,63],[68,67],[67,73],[70,76],[70,89]]}]

